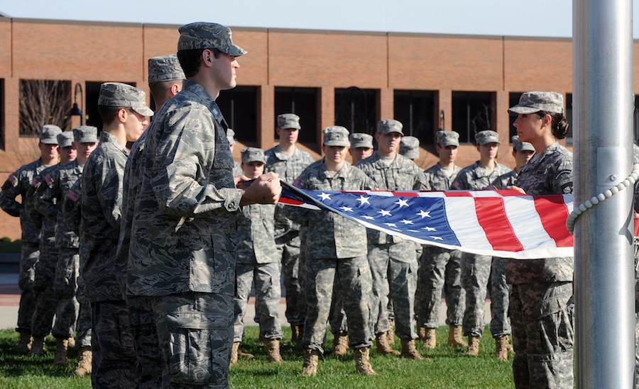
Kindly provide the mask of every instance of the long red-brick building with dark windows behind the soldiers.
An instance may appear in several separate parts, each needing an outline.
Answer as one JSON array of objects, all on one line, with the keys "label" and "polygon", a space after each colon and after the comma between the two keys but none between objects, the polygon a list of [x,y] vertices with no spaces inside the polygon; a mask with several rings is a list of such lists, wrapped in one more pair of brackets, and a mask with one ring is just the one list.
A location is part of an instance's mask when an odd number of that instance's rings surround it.
[{"label": "long red-brick building with dark windows behind the soldiers", "polygon": [[[175,52],[177,29],[0,17],[1,180],[37,156],[37,139],[29,135],[33,128],[20,124],[20,101],[29,83],[62,81],[68,91],[65,106],[77,103],[86,123],[101,128],[99,85],[120,81],[148,93],[147,60]],[[498,159],[512,167],[513,128],[506,111],[521,92],[559,91],[571,119],[568,38],[232,30],[234,42],[249,54],[239,58],[238,86],[222,92],[217,102],[236,131],[236,157],[243,145],[273,146],[275,116],[295,112],[301,117],[302,147],[316,157],[324,127],[339,124],[371,133],[377,120],[396,118],[407,135],[420,138],[416,162],[424,169],[437,160],[433,138],[438,128],[461,134],[461,167],[479,157],[472,145],[475,131],[496,130],[503,145]],[[153,108],[153,101],[149,104]],[[79,124],[80,116],[70,116],[67,129]],[[570,146],[572,140],[564,142]],[[0,213],[4,236],[16,239],[20,230],[16,218]]]}]

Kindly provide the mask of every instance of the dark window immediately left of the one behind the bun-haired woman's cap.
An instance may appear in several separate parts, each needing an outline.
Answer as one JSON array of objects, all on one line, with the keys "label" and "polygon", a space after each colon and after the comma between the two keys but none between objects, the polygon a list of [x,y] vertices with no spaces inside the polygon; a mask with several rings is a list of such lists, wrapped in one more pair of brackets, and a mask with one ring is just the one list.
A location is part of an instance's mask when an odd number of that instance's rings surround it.
[{"label": "dark window immediately left of the one behind the bun-haired woman's cap", "polygon": [[453,92],[452,125],[460,143],[474,143],[475,134],[492,128],[495,106],[490,92]]}]

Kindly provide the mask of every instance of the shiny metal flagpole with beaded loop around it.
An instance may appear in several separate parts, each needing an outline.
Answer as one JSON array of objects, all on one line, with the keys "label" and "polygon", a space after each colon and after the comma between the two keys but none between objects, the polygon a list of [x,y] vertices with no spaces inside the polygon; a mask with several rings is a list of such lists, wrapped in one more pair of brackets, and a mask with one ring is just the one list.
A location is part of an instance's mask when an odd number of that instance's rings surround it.
[{"label": "shiny metal flagpole with beaded loop around it", "polygon": [[[575,206],[632,171],[633,1],[573,0]],[[630,186],[632,188],[632,186]],[[632,388],[632,191],[576,222],[577,388]]]}]

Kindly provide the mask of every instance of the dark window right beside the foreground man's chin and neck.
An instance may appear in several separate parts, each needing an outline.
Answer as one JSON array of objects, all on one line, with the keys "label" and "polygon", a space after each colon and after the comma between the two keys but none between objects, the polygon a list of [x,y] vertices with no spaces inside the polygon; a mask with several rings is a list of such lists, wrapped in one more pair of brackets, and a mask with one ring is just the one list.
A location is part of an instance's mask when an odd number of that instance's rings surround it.
[{"label": "dark window right beside the foreground man's chin and neck", "polygon": [[258,86],[236,86],[222,91],[215,100],[242,143],[257,142],[258,134]]}]

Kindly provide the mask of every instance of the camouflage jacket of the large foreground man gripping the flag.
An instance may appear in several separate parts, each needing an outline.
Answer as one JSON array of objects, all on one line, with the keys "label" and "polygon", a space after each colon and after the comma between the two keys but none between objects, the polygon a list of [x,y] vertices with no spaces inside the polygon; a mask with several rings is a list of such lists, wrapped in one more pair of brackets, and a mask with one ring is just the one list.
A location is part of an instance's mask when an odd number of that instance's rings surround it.
[{"label": "camouflage jacket of the large foreground man gripping the flag", "polygon": [[193,81],[155,113],[139,166],[127,295],[234,294],[243,191],[226,128],[217,103]]}]

